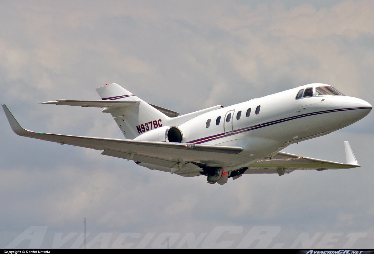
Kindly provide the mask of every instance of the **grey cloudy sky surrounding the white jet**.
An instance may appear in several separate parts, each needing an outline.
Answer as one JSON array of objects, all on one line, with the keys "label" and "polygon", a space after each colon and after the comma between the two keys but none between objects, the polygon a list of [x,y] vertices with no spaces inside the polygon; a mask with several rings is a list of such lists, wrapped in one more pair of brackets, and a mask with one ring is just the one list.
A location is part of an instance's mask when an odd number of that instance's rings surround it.
[{"label": "grey cloudy sky surrounding the white jet", "polygon": [[[107,138],[123,136],[100,109],[38,103],[97,100],[95,88],[118,83],[184,114],[327,83],[373,105],[373,17],[370,0],[1,1],[0,102],[33,131]],[[290,248],[306,234],[296,248],[343,248],[355,233],[349,248],[374,248],[373,113],[285,149],[345,162],[348,140],[361,168],[245,175],[224,186],[19,137],[0,119],[0,248],[34,226],[47,226],[42,248],[82,248],[84,217],[90,248],[141,247],[147,233],[145,248],[165,248],[166,238],[186,248],[190,233],[201,236],[197,248],[227,239],[217,246],[236,248],[253,227],[280,231],[249,248]],[[138,235],[114,244],[129,232]],[[69,233],[78,234],[56,244]]]}]

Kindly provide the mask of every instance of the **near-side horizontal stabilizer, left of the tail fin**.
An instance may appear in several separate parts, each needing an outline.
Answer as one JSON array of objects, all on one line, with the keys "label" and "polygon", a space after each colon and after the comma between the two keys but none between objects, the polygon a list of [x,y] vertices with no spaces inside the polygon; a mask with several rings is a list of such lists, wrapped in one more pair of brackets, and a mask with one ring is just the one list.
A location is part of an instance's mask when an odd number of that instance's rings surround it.
[{"label": "near-side horizontal stabilizer, left of the tail fin", "polygon": [[139,101],[98,101],[98,100],[57,100],[46,101],[40,104],[54,104],[54,105],[68,105],[80,107],[95,107],[95,108],[122,108],[135,104]]}]

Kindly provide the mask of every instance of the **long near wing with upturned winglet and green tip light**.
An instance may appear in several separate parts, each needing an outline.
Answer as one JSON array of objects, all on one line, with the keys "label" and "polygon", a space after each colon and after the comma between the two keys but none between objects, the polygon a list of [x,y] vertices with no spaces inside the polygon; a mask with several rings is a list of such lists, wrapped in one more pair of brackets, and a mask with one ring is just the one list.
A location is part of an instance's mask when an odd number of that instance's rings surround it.
[{"label": "long near wing with upturned winglet and green tip light", "polygon": [[2,104],[2,106],[12,130],[20,136],[95,150],[104,150],[102,152],[104,155],[157,164],[170,168],[178,164],[178,162],[203,160],[217,160],[230,164],[237,159],[239,153],[243,150],[242,147],[237,146],[122,140],[33,132],[22,128],[6,105]]}]

